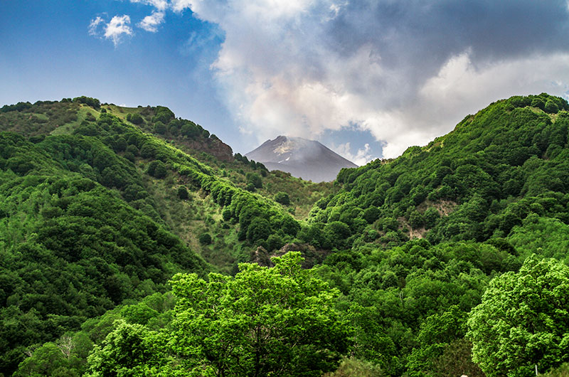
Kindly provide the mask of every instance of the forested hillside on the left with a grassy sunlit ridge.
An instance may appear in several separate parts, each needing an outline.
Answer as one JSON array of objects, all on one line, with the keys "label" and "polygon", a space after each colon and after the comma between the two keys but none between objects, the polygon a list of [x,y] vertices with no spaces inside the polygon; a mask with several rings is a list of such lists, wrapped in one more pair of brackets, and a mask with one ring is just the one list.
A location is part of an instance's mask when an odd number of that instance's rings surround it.
[{"label": "forested hillside on the left with a grassy sunlit ridge", "polygon": [[166,107],[124,109],[78,97],[1,108],[3,373],[26,347],[124,300],[166,292],[176,272],[235,271],[257,245],[275,250],[294,238],[293,206],[229,179],[252,177],[262,189],[261,176],[270,175],[264,166],[230,161],[240,166],[234,173],[203,164],[143,131],[162,122],[193,130],[195,145],[220,144]]}]

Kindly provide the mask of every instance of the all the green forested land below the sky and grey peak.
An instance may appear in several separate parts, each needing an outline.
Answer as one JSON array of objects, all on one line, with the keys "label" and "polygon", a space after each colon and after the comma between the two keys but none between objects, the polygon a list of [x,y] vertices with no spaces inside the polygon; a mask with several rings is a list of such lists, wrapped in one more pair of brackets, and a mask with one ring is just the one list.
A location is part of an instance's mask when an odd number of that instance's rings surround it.
[{"label": "all the green forested land below the sky and grey peak", "polygon": [[0,107],[0,376],[569,376],[569,104],[314,184],[167,107]]}]

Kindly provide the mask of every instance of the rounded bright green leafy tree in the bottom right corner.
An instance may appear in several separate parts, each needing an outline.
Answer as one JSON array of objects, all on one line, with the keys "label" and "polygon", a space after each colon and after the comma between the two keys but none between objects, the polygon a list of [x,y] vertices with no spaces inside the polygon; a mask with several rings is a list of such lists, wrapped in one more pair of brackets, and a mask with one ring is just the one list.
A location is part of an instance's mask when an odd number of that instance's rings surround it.
[{"label": "rounded bright green leafy tree in the bottom right corner", "polygon": [[528,257],[491,280],[470,312],[472,360],[489,377],[532,376],[569,361],[569,267]]}]

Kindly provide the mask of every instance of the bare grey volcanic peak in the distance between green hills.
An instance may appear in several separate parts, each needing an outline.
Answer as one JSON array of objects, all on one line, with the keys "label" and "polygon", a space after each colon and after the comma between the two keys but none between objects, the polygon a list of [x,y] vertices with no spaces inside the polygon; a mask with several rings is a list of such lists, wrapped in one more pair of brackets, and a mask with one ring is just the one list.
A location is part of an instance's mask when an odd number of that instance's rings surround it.
[{"label": "bare grey volcanic peak in the distance between green hills", "polygon": [[301,137],[279,136],[267,140],[245,156],[269,170],[287,171],[314,182],[334,181],[341,169],[357,167],[319,142]]}]

